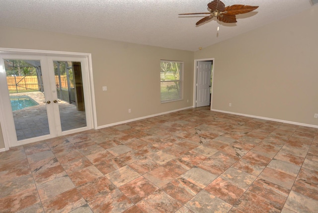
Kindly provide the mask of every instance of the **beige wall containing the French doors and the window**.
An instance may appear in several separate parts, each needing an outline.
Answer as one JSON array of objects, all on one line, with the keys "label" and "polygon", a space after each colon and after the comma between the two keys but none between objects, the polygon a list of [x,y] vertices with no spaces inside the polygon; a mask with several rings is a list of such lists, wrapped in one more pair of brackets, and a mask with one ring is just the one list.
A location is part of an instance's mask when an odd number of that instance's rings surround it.
[{"label": "beige wall containing the French doors and the window", "polygon": [[[91,53],[98,126],[193,105],[194,52],[20,28],[0,31],[1,48]],[[184,61],[183,101],[160,104],[160,59]]]}]

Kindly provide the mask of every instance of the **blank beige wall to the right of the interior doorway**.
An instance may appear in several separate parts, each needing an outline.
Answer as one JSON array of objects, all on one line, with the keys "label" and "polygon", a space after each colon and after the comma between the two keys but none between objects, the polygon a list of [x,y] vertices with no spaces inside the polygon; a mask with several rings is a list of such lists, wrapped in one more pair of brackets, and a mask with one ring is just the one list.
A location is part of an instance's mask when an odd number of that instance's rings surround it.
[{"label": "blank beige wall to the right of the interior doorway", "polygon": [[215,58],[213,109],[318,125],[318,6],[194,57]]}]

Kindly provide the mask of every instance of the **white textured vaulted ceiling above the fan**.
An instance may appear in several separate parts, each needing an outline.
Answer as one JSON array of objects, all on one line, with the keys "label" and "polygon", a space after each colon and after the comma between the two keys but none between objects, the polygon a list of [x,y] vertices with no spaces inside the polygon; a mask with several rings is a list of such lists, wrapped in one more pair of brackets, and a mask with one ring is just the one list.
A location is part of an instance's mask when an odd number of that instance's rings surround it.
[{"label": "white textured vaulted ceiling above the fan", "polygon": [[178,15],[207,12],[209,1],[1,0],[0,25],[196,51],[312,6],[310,0],[223,0],[259,6],[237,15],[236,24],[214,18],[196,26],[202,17]]}]

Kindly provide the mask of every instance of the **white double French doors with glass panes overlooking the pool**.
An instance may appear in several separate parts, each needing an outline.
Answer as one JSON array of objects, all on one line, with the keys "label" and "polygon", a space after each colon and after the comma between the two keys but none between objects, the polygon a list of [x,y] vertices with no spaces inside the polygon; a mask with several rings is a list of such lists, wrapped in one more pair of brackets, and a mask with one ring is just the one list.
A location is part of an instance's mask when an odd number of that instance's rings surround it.
[{"label": "white double French doors with glass panes overlooking the pool", "polygon": [[85,57],[1,53],[1,128],[9,147],[91,129],[87,72]]}]

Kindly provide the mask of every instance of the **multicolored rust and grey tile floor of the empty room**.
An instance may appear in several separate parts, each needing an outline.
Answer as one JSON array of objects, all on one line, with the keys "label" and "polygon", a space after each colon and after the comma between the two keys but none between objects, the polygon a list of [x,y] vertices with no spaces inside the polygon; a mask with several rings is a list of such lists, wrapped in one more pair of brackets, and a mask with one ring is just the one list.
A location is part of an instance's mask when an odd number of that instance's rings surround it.
[{"label": "multicolored rust and grey tile floor of the empty room", "polygon": [[1,213],[317,213],[318,129],[191,108],[0,153]]}]

